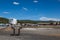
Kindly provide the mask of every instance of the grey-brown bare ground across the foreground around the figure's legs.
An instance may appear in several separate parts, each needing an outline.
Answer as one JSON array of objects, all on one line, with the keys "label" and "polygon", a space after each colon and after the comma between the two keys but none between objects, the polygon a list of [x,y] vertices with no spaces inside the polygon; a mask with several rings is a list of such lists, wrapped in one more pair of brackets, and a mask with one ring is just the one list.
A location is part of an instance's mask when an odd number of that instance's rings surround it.
[{"label": "grey-brown bare ground across the foreground around the figure's legs", "polygon": [[10,36],[12,30],[0,30],[0,40],[60,40],[60,29],[23,28],[20,36]]}]

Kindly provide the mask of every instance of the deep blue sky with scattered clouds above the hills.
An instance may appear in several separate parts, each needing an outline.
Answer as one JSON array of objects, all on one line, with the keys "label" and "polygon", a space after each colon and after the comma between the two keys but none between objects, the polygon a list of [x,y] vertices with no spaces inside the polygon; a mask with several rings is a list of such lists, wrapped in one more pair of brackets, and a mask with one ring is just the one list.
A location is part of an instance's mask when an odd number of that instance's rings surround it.
[{"label": "deep blue sky with scattered clouds above the hills", "polygon": [[0,16],[20,20],[60,20],[60,0],[0,0]]}]

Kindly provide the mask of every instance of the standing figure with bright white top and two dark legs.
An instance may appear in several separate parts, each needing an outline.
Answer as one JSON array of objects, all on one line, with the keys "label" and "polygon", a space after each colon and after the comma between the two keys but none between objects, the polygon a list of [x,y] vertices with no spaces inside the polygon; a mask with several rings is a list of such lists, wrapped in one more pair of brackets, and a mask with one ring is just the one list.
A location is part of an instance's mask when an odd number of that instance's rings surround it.
[{"label": "standing figure with bright white top and two dark legs", "polygon": [[[12,36],[14,36],[14,35],[20,35],[20,28],[21,27],[18,27],[18,29],[17,29],[17,26],[16,26],[17,25],[17,20],[15,18],[10,19],[9,23],[11,24],[11,28],[13,29],[13,34],[11,34],[11,35]],[[18,34],[15,34],[16,30],[18,30]]]}]

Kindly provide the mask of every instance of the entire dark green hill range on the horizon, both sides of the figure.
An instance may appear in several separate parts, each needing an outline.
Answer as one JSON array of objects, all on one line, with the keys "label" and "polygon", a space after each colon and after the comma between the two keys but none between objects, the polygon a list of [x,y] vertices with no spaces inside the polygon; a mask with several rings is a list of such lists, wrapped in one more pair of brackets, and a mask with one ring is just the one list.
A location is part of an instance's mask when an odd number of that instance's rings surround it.
[{"label": "entire dark green hill range on the horizon, both sides of the figure", "polygon": [[[51,23],[55,21],[35,21],[35,20],[17,20],[18,23]],[[0,23],[9,23],[8,18],[0,17]]]}]

